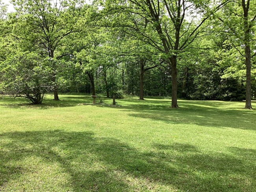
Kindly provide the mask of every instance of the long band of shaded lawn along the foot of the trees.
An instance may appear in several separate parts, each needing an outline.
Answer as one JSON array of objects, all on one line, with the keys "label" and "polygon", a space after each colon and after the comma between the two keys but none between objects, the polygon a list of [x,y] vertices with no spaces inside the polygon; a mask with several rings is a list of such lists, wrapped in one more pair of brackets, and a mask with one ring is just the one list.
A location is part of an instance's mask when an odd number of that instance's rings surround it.
[{"label": "long band of shaded lawn along the foot of the trees", "polygon": [[[52,109],[57,107],[75,107],[82,103],[92,103],[89,95],[60,95],[60,101],[53,101],[47,96],[41,105],[32,105],[24,102],[23,98],[4,98],[0,104],[8,108],[39,108]],[[104,98],[107,104],[112,100]],[[256,113],[254,110],[242,109],[244,102],[221,102],[221,101],[178,101],[180,108],[172,109],[170,100],[138,100],[126,98],[117,100],[121,105],[115,110],[130,112],[135,118],[145,118],[153,121],[161,121],[168,124],[195,124],[208,127],[231,127],[238,129],[256,130]],[[236,105],[234,105],[236,103]],[[241,103],[241,106],[237,105]],[[252,102],[256,103],[256,102]],[[234,106],[233,106],[234,105]],[[95,107],[114,108],[108,105],[95,105]]]}]

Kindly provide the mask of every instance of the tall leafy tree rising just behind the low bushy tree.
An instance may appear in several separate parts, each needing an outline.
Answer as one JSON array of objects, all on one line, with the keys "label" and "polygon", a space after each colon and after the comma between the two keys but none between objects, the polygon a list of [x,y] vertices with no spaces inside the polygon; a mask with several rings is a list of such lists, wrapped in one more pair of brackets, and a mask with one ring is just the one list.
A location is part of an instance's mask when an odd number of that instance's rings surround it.
[{"label": "tall leafy tree rising just behind the low bushy tree", "polygon": [[[42,55],[58,58],[55,52],[63,38],[74,30],[79,17],[79,8],[76,1],[65,0],[13,0],[17,10],[17,22],[24,22],[26,27],[19,33],[23,39],[41,49]],[[59,100],[56,75],[58,66],[53,66],[52,82],[54,83],[54,100]]]}]

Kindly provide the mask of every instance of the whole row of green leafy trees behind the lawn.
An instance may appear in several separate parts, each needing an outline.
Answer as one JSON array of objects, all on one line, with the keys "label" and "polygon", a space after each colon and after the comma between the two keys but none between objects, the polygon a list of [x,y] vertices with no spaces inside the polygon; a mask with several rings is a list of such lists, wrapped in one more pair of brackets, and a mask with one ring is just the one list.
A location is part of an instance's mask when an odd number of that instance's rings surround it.
[{"label": "whole row of green leafy trees behind the lawn", "polygon": [[[0,90],[246,100],[256,96],[250,0],[13,0],[0,11]],[[253,95],[252,95],[253,94]]]}]

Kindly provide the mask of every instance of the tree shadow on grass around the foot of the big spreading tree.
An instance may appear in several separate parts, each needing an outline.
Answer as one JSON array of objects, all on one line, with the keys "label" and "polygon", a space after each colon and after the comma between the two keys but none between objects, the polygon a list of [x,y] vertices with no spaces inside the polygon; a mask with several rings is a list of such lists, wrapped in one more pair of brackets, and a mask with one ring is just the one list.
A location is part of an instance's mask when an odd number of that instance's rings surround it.
[{"label": "tree shadow on grass around the foot of the big spreading tree", "polygon": [[[229,103],[221,102],[221,107],[215,107],[216,102],[180,101],[182,107],[172,109],[167,102],[147,101],[138,104],[122,105],[123,110],[135,118],[161,121],[166,124],[194,124],[216,128],[237,128],[256,130],[256,111],[230,109]],[[108,106],[97,106],[108,107]]]}]

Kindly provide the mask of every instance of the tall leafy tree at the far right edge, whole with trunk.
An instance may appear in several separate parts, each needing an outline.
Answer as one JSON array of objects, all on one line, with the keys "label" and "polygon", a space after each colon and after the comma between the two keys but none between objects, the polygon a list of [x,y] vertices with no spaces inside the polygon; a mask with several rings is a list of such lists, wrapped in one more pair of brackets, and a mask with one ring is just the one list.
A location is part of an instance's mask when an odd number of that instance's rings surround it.
[{"label": "tall leafy tree at the far right edge, whole with trunk", "polygon": [[256,4],[252,0],[232,1],[219,12],[216,18],[221,22],[221,27],[215,31],[227,34],[228,42],[244,61],[246,68],[245,108],[252,109],[251,60],[256,55]]}]

